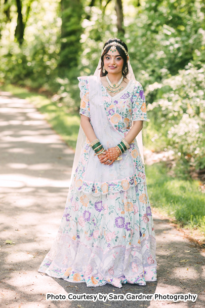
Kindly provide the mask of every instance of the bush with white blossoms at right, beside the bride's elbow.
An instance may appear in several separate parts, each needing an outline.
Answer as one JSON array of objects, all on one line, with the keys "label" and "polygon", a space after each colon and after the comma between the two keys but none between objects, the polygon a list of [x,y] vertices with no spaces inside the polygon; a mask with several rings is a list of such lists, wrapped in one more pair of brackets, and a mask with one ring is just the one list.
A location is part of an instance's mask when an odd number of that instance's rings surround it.
[{"label": "bush with white blossoms at right, beside the bride's elbow", "polygon": [[148,104],[151,140],[175,150],[176,159],[185,166],[205,168],[205,65],[180,70],[161,84],[150,85],[147,92],[160,89],[161,98]]}]

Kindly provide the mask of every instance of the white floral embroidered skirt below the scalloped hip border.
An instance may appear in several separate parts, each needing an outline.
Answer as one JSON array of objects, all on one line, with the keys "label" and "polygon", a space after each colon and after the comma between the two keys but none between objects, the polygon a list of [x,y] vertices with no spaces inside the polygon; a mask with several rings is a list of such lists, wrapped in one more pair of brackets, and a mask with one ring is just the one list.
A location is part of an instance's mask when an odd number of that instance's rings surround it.
[{"label": "white floral embroidered skirt below the scalloped hip border", "polygon": [[156,281],[146,181],[95,197],[70,189],[58,235],[39,272],[88,287]]}]

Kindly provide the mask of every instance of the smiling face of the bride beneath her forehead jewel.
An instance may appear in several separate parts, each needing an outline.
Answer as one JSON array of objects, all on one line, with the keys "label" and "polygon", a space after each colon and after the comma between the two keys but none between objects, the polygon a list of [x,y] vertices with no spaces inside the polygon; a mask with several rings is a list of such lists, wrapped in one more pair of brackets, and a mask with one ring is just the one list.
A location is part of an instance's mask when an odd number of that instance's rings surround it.
[{"label": "smiling face of the bride beneath her forehead jewel", "polygon": [[114,52],[109,49],[107,54],[104,55],[104,66],[108,73],[117,74],[122,72],[123,64],[124,60],[119,55],[117,49]]}]

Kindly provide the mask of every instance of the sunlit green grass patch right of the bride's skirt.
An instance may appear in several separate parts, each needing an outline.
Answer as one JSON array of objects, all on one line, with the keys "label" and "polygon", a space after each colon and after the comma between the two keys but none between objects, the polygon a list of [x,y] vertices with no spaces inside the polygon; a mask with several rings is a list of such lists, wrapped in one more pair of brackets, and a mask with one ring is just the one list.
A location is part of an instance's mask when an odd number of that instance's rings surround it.
[{"label": "sunlit green grass patch right of the bride's skirt", "polygon": [[164,163],[146,166],[146,176],[153,207],[205,232],[205,194],[198,190],[198,181],[167,175]]}]

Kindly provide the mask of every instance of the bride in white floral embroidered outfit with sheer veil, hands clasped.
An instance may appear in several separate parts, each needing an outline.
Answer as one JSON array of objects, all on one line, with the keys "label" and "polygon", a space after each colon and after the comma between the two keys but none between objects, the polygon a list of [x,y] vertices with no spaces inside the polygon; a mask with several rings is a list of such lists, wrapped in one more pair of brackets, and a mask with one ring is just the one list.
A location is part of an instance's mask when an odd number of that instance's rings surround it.
[{"label": "bride in white floral embroidered outfit with sheer veil, hands clasped", "polygon": [[[110,38],[94,76],[78,78],[80,130],[58,235],[39,272],[88,287],[156,281],[143,165],[143,88],[127,45]],[[137,137],[137,140],[136,140]]]}]

